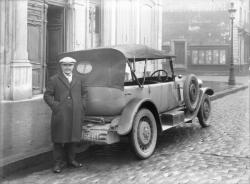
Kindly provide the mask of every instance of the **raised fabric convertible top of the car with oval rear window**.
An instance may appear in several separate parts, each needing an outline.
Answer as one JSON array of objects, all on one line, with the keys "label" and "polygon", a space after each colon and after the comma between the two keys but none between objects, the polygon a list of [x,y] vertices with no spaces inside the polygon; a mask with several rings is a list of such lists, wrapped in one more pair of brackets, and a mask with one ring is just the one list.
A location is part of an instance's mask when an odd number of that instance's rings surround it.
[{"label": "raised fabric convertible top of the car with oval rear window", "polygon": [[127,61],[171,59],[175,57],[164,51],[137,44],[66,52],[61,54],[59,59],[66,56],[76,59],[76,68],[79,65],[82,65],[83,69],[88,66],[91,68],[91,72],[82,73],[87,86],[111,87],[121,90],[124,88]]}]

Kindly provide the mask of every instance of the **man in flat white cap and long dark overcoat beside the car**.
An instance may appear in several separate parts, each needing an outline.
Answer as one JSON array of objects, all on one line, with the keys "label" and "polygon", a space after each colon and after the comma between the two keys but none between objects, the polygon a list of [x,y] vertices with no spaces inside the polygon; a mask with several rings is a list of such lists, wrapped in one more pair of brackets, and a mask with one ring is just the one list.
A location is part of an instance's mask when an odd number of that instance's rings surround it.
[{"label": "man in flat white cap and long dark overcoat beside the car", "polygon": [[76,60],[64,57],[60,71],[47,83],[44,100],[52,110],[51,138],[55,173],[68,165],[79,168],[75,145],[81,138],[81,122],[85,115],[86,87],[81,76],[73,73]]}]

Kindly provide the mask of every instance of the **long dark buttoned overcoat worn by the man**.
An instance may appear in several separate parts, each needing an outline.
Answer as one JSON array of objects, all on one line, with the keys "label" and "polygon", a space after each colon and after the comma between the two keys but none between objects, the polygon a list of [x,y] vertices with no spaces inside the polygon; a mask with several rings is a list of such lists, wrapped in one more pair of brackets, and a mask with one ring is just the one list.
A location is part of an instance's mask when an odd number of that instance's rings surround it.
[{"label": "long dark buttoned overcoat worn by the man", "polygon": [[73,74],[71,83],[62,72],[50,78],[46,85],[44,100],[52,110],[52,142],[80,141],[86,95],[84,79],[78,74]]}]

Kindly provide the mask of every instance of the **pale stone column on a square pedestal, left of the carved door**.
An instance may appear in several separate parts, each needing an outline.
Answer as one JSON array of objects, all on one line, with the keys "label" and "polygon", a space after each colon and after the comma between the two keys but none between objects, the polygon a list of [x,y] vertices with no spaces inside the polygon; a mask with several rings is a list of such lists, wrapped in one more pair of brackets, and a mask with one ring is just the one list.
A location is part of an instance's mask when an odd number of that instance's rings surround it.
[{"label": "pale stone column on a square pedestal, left of the carved door", "polygon": [[13,3],[14,53],[10,63],[12,100],[32,97],[32,66],[27,52],[27,0]]}]

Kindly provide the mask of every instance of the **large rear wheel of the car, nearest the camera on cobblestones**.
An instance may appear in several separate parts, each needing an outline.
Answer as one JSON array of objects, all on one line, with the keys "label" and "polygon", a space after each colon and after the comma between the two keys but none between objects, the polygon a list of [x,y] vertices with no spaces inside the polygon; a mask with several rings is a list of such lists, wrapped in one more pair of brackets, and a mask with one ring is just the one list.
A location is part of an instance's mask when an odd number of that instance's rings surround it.
[{"label": "large rear wheel of the car, nearest the camera on cobblestones", "polygon": [[130,142],[139,159],[149,158],[153,154],[157,142],[157,125],[150,110],[140,109],[135,115]]}]

